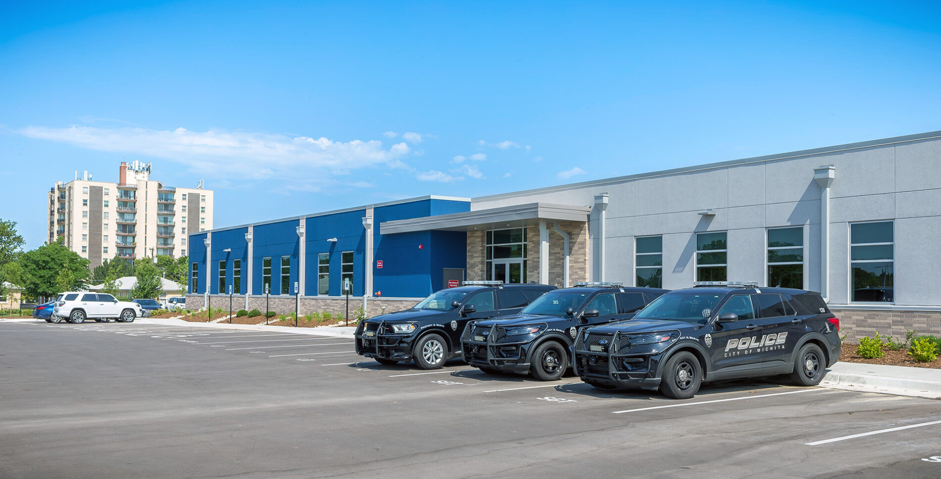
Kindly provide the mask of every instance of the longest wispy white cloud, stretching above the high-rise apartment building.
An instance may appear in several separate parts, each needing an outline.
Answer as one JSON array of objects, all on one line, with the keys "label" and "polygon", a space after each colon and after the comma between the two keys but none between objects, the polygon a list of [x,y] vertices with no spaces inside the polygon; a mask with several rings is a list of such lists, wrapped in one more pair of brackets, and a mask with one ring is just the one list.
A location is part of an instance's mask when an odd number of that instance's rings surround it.
[{"label": "longest wispy white cloud, stretching above the high-rise apartment building", "polygon": [[69,143],[101,152],[136,153],[182,163],[198,173],[219,177],[297,178],[327,169],[350,170],[387,165],[401,168],[411,149],[396,143],[386,149],[379,140],[342,142],[324,136],[287,136],[210,130],[191,132],[145,128],[28,126],[23,136]]}]

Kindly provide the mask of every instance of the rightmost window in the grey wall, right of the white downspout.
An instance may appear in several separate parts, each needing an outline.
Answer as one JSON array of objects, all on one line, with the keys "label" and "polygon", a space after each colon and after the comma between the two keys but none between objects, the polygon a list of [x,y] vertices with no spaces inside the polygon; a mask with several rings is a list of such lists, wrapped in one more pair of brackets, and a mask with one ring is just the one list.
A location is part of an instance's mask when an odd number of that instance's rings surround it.
[{"label": "rightmost window in the grey wall, right of the white downspout", "polygon": [[895,224],[892,221],[850,225],[853,301],[895,301]]}]

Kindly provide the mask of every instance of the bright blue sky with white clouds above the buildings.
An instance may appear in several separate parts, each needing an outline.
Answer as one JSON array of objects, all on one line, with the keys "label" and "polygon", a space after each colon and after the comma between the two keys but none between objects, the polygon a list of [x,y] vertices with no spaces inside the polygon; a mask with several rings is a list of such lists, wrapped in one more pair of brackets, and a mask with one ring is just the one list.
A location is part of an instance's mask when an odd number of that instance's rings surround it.
[{"label": "bright blue sky with white clouds above the buildings", "polygon": [[937,2],[0,6],[0,218],[74,170],[215,226],[941,130]]}]

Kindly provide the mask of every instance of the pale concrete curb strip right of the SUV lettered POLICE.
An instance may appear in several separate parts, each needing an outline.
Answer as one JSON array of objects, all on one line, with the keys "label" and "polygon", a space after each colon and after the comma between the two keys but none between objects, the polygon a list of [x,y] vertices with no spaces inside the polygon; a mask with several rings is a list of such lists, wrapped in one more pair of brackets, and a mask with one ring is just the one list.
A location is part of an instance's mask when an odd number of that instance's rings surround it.
[{"label": "pale concrete curb strip right of the SUV lettered POLICE", "polygon": [[821,386],[941,399],[941,369],[837,362],[823,377]]}]

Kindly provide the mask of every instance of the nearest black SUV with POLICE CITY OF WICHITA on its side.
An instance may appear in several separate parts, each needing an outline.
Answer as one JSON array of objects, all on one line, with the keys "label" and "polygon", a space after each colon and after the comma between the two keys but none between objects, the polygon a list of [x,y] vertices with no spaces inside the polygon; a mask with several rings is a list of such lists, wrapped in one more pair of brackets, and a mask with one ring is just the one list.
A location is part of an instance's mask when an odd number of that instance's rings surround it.
[{"label": "nearest black SUV with POLICE CITY OF WICHITA on its side", "polygon": [[630,321],[582,329],[576,373],[598,388],[659,389],[678,399],[719,379],[821,382],[840,341],[839,319],[819,293],[719,282],[662,295]]}]

